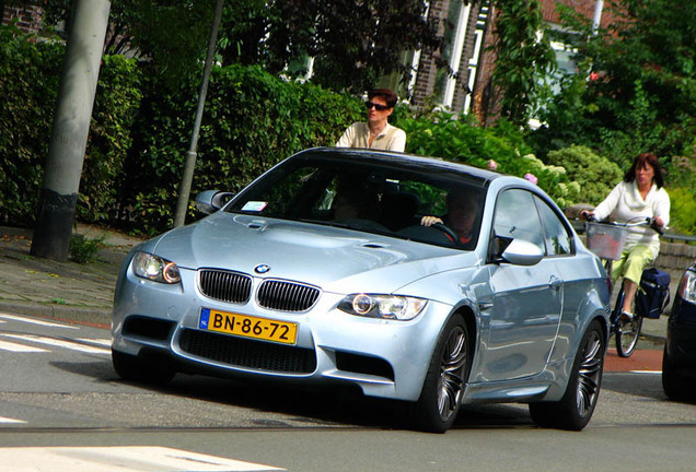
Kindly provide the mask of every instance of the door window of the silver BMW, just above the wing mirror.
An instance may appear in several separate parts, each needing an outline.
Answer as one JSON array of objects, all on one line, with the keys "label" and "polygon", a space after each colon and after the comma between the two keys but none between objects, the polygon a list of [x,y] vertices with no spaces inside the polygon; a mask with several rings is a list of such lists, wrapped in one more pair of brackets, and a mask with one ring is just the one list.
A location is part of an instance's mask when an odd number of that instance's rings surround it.
[{"label": "door window of the silver BMW, just above the wing mirror", "polygon": [[544,232],[531,192],[521,189],[504,190],[496,203],[494,219],[496,236],[520,238],[544,250]]}]

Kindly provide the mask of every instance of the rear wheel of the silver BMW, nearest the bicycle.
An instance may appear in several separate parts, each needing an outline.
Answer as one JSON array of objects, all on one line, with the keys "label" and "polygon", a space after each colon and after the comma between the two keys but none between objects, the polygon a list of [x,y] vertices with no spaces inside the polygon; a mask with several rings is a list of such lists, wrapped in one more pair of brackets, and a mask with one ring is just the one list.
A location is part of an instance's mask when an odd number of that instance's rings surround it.
[{"label": "rear wheel of the silver BMW, nearest the bicycle", "polygon": [[582,337],[564,397],[556,402],[530,403],[534,423],[566,430],[584,428],[600,397],[605,352],[604,331],[594,320]]}]

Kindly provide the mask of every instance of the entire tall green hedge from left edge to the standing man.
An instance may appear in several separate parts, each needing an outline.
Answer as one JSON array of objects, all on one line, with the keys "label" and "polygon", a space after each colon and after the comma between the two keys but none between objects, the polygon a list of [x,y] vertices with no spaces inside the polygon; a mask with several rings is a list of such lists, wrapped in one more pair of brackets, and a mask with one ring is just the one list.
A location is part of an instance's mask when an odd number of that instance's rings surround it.
[{"label": "entire tall green hedge from left edge to the standing man", "polygon": [[[0,28],[0,223],[31,227],[65,48]],[[155,234],[171,227],[198,83],[170,90],[147,64],[104,57],[77,219]],[[239,190],[305,148],[332,145],[364,115],[355,97],[288,82],[258,68],[216,68],[192,193]],[[193,211],[192,211],[193,215]]]}]

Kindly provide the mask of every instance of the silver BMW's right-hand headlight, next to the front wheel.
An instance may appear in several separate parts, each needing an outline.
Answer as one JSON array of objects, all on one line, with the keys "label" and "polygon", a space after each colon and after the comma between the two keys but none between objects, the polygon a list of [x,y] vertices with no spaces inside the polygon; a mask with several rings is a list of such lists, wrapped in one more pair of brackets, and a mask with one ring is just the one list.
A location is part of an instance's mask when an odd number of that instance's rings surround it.
[{"label": "silver BMW's right-hand headlight, next to the front wheel", "polygon": [[409,320],[425,308],[427,299],[399,295],[352,294],[338,304],[350,315],[370,318]]}]

